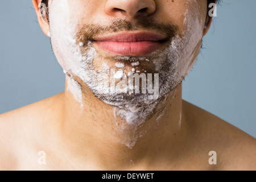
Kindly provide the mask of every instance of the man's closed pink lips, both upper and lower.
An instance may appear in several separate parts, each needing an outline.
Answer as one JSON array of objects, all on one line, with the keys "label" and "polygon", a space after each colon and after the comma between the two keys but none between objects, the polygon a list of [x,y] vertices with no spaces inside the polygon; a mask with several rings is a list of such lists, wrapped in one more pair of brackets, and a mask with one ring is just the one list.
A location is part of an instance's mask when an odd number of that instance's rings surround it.
[{"label": "man's closed pink lips, both upper and lower", "polygon": [[146,56],[161,49],[167,42],[165,35],[149,32],[122,32],[94,39],[98,48],[123,56]]}]

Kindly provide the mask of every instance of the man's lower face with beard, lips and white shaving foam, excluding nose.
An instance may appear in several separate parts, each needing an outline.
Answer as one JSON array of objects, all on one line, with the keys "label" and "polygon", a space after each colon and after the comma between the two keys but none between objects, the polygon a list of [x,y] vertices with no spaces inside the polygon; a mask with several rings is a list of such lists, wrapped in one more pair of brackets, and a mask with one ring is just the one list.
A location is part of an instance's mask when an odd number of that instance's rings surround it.
[{"label": "man's lower face with beard, lips and white shaving foam, excluding nose", "polygon": [[[70,85],[88,85],[100,100],[117,107],[118,115],[127,123],[139,125],[195,64],[203,38],[207,1],[155,1],[154,15],[133,22],[107,16],[105,3],[50,1],[53,51],[69,80],[77,83]],[[157,73],[158,97],[152,100],[148,99],[149,93],[110,92],[110,79],[106,75],[111,76],[113,70],[118,78],[115,85],[131,73]],[[80,96],[74,97],[81,100]]]}]

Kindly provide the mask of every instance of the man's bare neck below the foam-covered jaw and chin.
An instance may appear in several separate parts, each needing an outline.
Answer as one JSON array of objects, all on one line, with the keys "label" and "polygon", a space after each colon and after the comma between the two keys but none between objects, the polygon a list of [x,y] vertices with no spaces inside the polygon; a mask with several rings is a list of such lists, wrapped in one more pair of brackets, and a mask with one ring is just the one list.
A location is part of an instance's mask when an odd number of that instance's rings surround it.
[{"label": "man's bare neck below the foam-covered jaw and chin", "polygon": [[[139,127],[127,125],[114,114],[114,106],[99,100],[89,89],[83,89],[82,93],[81,104],[66,84],[63,118],[59,125],[63,142],[69,150],[72,148],[70,152],[75,155],[97,158],[93,160],[96,166],[111,164],[108,168],[111,169],[133,166],[142,161],[152,162],[159,157],[164,159],[164,154],[170,157],[178,150],[181,136],[185,133],[181,84]],[[134,146],[127,147],[129,142],[134,142]]]}]

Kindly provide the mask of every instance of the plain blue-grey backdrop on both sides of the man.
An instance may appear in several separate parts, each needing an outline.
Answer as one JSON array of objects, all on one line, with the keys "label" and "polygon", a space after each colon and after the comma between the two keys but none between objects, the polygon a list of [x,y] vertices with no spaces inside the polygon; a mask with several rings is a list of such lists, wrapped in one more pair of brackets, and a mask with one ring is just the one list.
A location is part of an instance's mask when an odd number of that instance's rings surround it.
[{"label": "plain blue-grey backdrop on both sides of the man", "polygon": [[[183,99],[256,137],[256,1],[224,0],[183,82]],[[1,1],[0,114],[64,91],[30,0]]]}]

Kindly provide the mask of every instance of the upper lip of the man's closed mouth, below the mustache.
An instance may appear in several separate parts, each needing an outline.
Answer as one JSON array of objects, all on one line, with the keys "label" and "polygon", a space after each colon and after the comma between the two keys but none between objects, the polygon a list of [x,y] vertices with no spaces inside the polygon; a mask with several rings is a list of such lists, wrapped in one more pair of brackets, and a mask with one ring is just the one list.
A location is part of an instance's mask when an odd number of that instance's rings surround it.
[{"label": "upper lip of the man's closed mouth, below the mustache", "polygon": [[167,36],[152,32],[121,32],[108,36],[100,36],[94,39],[94,41],[98,42],[164,42],[166,40],[168,40]]}]

